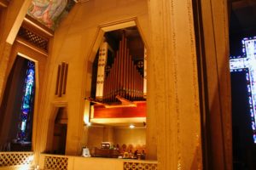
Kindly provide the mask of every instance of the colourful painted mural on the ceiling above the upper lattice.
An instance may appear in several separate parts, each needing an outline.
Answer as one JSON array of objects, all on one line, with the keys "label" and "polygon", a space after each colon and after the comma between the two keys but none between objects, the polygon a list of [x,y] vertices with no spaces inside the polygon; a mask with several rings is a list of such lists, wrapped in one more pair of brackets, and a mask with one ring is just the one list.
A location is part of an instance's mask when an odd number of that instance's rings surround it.
[{"label": "colourful painted mural on the ceiling above the upper lattice", "polygon": [[73,0],[32,0],[27,14],[54,31],[74,3]]}]

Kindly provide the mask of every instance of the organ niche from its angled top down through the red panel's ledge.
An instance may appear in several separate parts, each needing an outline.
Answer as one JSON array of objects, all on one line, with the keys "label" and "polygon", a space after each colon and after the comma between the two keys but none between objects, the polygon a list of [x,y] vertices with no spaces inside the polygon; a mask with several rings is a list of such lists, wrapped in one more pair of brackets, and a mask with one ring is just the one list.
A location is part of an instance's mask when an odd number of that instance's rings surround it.
[{"label": "organ niche from its angled top down through the red panel's ledge", "polygon": [[[90,122],[146,122],[146,49],[137,26],[104,34],[93,62]],[[144,123],[143,123],[144,122]]]}]

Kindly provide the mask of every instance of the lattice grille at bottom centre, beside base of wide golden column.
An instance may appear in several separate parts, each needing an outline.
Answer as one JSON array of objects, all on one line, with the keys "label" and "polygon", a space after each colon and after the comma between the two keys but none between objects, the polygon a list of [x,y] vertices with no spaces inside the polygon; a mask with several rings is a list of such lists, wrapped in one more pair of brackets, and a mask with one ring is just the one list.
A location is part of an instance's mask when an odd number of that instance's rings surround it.
[{"label": "lattice grille at bottom centre, beside base of wide golden column", "polygon": [[157,164],[125,161],[124,170],[157,170]]}]

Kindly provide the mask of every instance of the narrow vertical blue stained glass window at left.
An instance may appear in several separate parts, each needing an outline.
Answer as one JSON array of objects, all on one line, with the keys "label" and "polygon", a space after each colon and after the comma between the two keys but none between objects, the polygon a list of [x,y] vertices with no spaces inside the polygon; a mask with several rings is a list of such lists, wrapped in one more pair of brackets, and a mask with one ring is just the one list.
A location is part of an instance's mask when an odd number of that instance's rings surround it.
[{"label": "narrow vertical blue stained glass window at left", "polygon": [[23,88],[23,97],[20,107],[20,123],[17,134],[19,140],[30,140],[32,132],[32,112],[35,88],[35,64],[27,62],[26,78]]}]

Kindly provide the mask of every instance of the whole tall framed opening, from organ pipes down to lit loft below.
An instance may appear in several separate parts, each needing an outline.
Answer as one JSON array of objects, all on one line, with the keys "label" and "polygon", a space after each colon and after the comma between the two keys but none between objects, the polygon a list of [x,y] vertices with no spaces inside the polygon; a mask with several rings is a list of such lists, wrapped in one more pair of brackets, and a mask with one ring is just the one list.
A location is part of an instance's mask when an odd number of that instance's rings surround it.
[{"label": "whole tall framed opening, from organ pipes down to lit loft below", "polygon": [[92,79],[84,114],[92,156],[145,158],[146,58],[134,19],[98,31],[90,54]]}]

